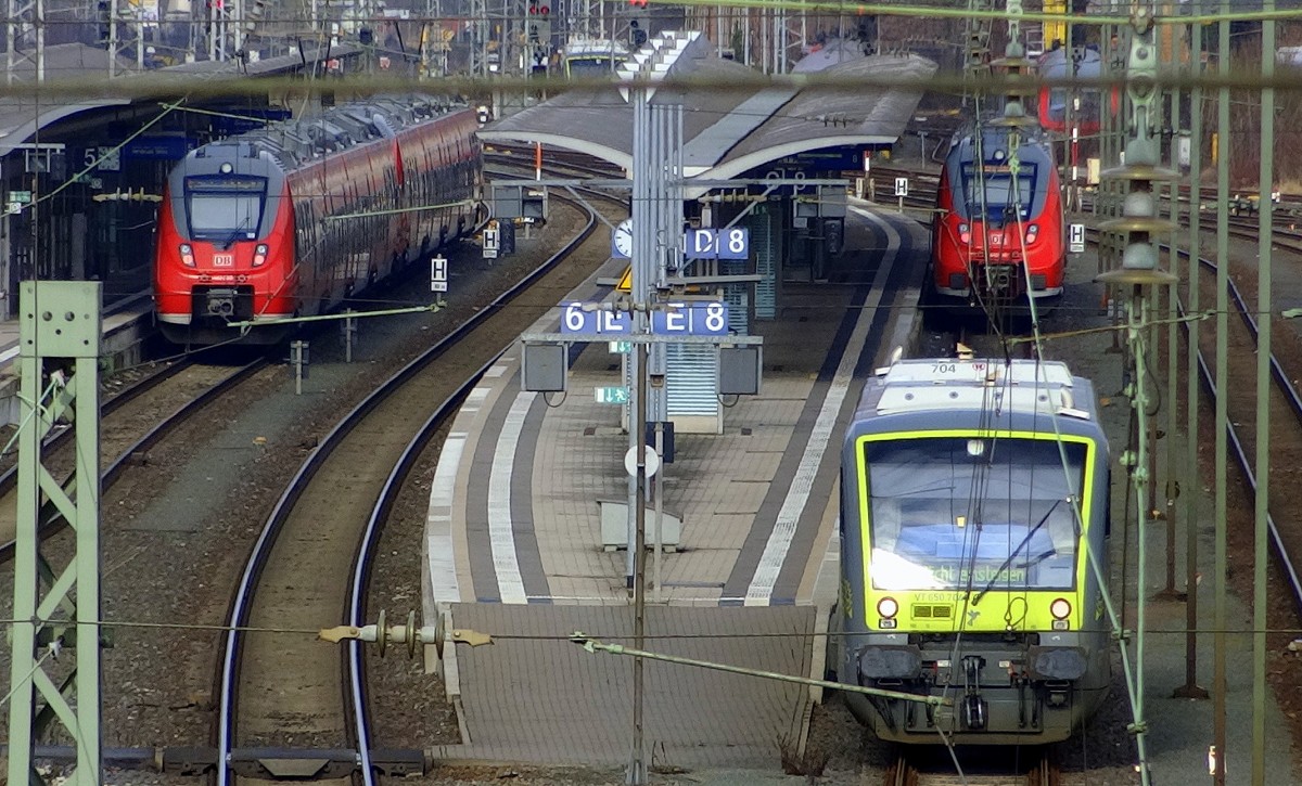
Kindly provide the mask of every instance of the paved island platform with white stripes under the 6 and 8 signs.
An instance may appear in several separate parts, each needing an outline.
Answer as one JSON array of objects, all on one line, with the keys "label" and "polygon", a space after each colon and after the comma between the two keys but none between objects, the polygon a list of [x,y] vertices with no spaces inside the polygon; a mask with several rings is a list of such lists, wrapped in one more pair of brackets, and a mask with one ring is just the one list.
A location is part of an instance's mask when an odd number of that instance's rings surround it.
[{"label": "paved island platform with white stripes under the 6 and 8 signs", "polygon": [[[727,410],[721,435],[677,435],[661,506],[681,518],[682,535],[659,567],[648,556],[651,651],[824,673],[818,634],[836,593],[828,547],[840,433],[875,362],[917,328],[927,239],[917,224],[861,206],[846,249],[829,276],[840,282],[784,282],[779,319],[758,323],[760,394]],[[594,297],[595,278],[574,299]],[[535,331],[555,331],[557,318]],[[631,661],[565,640],[582,630],[629,643],[631,631],[628,554],[603,548],[600,509],[628,498],[628,435],[621,407],[592,394],[618,384],[618,368],[604,344],[590,345],[572,363],[569,393],[547,402],[521,392],[517,345],[449,432],[431,489],[424,614],[501,643],[447,649],[467,742],[439,751],[445,757],[628,760]],[[646,671],[658,763],[771,768],[779,739],[803,739],[812,695],[802,686],[659,662]]]}]

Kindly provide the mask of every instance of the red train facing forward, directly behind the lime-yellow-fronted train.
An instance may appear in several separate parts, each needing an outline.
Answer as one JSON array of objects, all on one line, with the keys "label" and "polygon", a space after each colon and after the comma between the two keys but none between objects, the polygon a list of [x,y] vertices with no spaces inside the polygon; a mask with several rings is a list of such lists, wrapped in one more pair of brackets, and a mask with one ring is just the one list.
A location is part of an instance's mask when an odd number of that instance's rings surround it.
[{"label": "red train facing forward, directly behind the lime-yellow-fronted train", "polygon": [[956,137],[932,220],[931,285],[952,310],[1016,314],[1062,295],[1066,237],[1057,165],[1048,141],[1009,131]]}]

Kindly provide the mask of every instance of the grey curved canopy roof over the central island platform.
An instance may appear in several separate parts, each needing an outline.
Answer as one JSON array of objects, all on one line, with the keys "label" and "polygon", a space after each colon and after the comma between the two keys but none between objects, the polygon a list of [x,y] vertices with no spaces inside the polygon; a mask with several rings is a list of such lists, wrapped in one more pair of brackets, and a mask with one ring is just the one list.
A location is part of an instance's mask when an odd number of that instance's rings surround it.
[{"label": "grey curved canopy roof over the central island platform", "polygon": [[[704,38],[691,38],[678,47],[677,60],[665,73],[720,85],[754,79],[750,68],[715,56]],[[823,72],[838,82],[872,75],[874,85],[854,91],[816,86],[749,91],[663,86],[651,103],[684,105],[685,174],[728,180],[805,151],[894,144],[922,99],[917,85],[935,70],[935,62],[915,55],[870,56]],[[894,78],[901,86],[878,86]],[[564,92],[484,126],[479,137],[486,142],[539,142],[585,152],[625,169],[633,167],[633,109],[621,95],[620,82]]]}]

